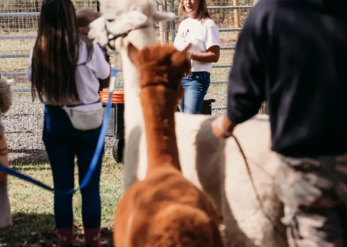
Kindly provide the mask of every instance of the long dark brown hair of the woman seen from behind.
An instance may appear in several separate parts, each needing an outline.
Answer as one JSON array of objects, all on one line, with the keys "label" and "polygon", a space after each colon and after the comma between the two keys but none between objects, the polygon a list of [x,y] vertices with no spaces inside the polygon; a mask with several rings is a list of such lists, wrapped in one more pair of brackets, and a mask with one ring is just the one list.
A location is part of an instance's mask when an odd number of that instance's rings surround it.
[{"label": "long dark brown hair of the woman seen from behind", "polygon": [[[79,35],[75,8],[71,0],[43,0],[39,34],[32,57],[31,87],[53,104],[78,101],[75,71],[78,66],[80,41],[87,45],[89,62],[93,43]],[[35,99],[35,90],[32,90]]]}]

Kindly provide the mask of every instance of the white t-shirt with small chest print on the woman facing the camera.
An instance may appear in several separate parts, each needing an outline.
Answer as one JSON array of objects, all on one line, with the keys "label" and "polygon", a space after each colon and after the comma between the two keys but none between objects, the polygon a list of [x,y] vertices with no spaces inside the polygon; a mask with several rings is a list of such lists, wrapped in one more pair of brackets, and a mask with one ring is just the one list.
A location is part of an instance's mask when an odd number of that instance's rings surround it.
[{"label": "white t-shirt with small chest print on the woman facing the camera", "polygon": [[[174,46],[177,49],[183,49],[191,42],[194,46],[192,52],[206,52],[213,45],[220,45],[219,30],[215,22],[206,19],[201,23],[198,19],[190,17],[183,20],[178,26],[178,32],[174,40]],[[192,72],[206,71],[211,72],[212,63],[201,63],[195,60],[191,61]]]}]

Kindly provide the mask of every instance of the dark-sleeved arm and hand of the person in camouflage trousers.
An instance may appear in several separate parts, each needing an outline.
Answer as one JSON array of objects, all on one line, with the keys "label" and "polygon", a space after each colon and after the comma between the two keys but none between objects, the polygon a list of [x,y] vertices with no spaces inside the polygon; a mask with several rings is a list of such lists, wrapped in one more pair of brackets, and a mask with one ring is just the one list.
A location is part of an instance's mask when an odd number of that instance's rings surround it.
[{"label": "dark-sleeved arm and hand of the person in camouflage trousers", "polygon": [[259,111],[265,99],[265,69],[268,48],[267,23],[256,21],[253,10],[236,44],[229,75],[227,112],[212,123],[219,138],[231,136],[237,124],[247,121]]}]

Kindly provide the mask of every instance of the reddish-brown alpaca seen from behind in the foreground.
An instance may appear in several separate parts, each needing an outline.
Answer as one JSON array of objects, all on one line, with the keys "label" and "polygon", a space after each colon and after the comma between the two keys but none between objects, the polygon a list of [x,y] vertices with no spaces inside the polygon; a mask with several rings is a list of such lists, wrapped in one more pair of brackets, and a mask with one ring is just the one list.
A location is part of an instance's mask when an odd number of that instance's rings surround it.
[{"label": "reddish-brown alpaca seen from behind in the foreground", "polygon": [[[189,45],[190,46],[190,45]],[[140,73],[148,154],[146,178],[122,196],[115,212],[116,247],[222,247],[220,218],[207,194],[183,177],[174,112],[190,71],[187,50],[155,43],[127,47]]]}]

